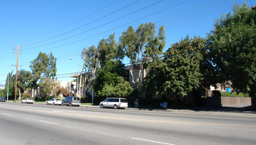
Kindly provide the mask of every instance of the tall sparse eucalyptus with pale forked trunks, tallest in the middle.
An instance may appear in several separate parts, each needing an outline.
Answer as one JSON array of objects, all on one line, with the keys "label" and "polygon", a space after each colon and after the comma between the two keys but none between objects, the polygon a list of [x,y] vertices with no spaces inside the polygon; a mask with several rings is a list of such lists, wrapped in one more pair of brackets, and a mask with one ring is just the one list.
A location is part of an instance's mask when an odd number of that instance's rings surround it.
[{"label": "tall sparse eucalyptus with pale forked trunks, tallest in the middle", "polygon": [[123,47],[125,55],[131,63],[132,82],[138,87],[139,85],[135,83],[133,77],[133,69],[139,67],[139,84],[141,84],[143,68],[147,63],[158,59],[162,55],[166,44],[164,26],[160,27],[157,36],[155,27],[152,22],[141,24],[136,31],[132,26],[129,26],[127,31],[123,32],[119,38],[119,45]]}]

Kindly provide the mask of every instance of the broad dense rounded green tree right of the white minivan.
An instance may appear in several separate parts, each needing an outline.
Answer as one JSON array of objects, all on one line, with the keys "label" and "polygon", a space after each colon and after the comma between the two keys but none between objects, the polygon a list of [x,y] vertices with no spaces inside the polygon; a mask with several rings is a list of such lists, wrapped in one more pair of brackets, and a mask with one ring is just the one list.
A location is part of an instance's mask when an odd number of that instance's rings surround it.
[{"label": "broad dense rounded green tree right of the white minivan", "polygon": [[[164,59],[150,64],[142,89],[153,95],[180,101],[192,90],[198,89],[203,80],[200,65],[206,40],[187,36],[164,53]],[[178,103],[178,102],[177,102]]]}]

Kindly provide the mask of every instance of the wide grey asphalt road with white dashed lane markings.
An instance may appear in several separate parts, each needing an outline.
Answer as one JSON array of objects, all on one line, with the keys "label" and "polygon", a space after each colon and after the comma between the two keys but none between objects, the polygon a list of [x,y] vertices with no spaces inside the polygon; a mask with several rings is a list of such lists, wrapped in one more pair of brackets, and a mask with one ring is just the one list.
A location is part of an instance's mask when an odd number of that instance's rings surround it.
[{"label": "wide grey asphalt road with white dashed lane markings", "polygon": [[0,103],[0,144],[256,144],[256,114]]}]

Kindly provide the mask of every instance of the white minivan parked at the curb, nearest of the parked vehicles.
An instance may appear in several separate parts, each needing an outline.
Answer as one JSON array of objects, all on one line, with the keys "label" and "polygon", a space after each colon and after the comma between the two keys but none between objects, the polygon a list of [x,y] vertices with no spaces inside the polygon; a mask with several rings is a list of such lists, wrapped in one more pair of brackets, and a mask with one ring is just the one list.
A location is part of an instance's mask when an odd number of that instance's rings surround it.
[{"label": "white minivan parked at the curb, nearest of the parked vehicles", "polygon": [[127,108],[128,103],[125,98],[107,98],[106,100],[100,102],[100,107],[113,107],[114,109],[117,108]]}]

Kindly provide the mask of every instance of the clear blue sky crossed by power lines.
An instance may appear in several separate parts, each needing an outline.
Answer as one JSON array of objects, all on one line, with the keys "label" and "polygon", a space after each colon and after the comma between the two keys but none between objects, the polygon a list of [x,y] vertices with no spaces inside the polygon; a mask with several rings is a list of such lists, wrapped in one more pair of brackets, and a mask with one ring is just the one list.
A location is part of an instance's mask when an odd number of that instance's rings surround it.
[{"label": "clear blue sky crossed by power lines", "polygon": [[[256,5],[256,0],[246,3]],[[83,48],[97,46],[113,33],[118,42],[128,26],[136,30],[154,22],[156,32],[164,26],[166,51],[187,34],[205,38],[214,19],[231,12],[233,4],[234,0],[1,0],[0,84],[5,84],[9,72],[16,73],[14,44],[22,46],[18,70],[31,71],[30,62],[40,52],[51,51],[57,58],[58,80],[69,80],[69,73],[77,72],[77,61],[82,67]]]}]

